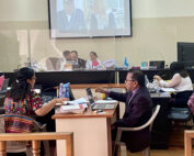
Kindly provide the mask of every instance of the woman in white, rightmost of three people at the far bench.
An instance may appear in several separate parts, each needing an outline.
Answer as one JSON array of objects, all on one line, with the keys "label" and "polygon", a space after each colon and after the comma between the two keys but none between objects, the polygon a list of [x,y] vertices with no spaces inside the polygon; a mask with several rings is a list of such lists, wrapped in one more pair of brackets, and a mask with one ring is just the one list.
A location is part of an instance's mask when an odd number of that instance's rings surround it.
[{"label": "woman in white, rightmost of three people at the far bench", "polygon": [[102,69],[103,66],[101,62],[98,59],[98,55],[95,52],[90,52],[90,59],[87,60],[87,69]]}]

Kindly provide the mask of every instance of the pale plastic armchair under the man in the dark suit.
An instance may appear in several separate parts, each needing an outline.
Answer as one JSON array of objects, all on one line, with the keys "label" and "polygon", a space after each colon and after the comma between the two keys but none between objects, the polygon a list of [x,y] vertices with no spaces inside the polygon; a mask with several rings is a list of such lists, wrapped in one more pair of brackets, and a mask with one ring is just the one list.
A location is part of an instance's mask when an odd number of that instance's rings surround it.
[{"label": "pale plastic armchair under the man in the dark suit", "polygon": [[[140,131],[147,126],[149,126],[149,131],[151,132],[151,129],[152,129],[152,123],[157,116],[157,114],[159,113],[160,111],[160,105],[157,105],[155,108],[155,111],[151,115],[151,118],[148,120],[147,123],[145,123],[144,125],[141,126],[138,126],[138,127],[118,127],[117,129],[117,134],[116,134],[116,141],[115,141],[115,144],[114,144],[114,149],[113,149],[113,156],[116,156],[116,153],[117,153],[117,147],[118,146],[126,146],[124,142],[121,142],[121,138],[122,138],[122,133],[125,131],[125,132],[132,132],[132,131]],[[126,156],[127,156],[127,153],[125,153]],[[150,156],[150,148],[147,147],[142,151],[142,156]]]}]

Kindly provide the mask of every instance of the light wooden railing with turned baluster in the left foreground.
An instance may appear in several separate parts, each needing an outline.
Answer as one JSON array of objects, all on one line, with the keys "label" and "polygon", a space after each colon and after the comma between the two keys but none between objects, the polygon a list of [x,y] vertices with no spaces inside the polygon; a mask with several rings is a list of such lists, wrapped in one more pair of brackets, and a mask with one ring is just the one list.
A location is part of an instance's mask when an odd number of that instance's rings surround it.
[{"label": "light wooden railing with turned baluster in the left foreground", "polygon": [[73,133],[1,133],[0,134],[0,156],[7,155],[7,141],[32,141],[33,156],[39,156],[41,141],[66,140],[65,156],[73,156]]}]

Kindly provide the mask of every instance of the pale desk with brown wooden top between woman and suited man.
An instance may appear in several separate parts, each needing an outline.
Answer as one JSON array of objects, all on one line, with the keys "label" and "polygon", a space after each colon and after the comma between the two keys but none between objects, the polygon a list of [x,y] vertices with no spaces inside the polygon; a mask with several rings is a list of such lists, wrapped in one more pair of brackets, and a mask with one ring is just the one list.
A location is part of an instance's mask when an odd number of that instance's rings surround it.
[{"label": "pale desk with brown wooden top between woman and suited man", "polygon": [[[105,114],[87,111],[83,114],[55,114],[56,132],[73,132],[75,156],[112,156],[111,119],[115,110]],[[57,156],[62,156],[64,146],[57,141]]]}]

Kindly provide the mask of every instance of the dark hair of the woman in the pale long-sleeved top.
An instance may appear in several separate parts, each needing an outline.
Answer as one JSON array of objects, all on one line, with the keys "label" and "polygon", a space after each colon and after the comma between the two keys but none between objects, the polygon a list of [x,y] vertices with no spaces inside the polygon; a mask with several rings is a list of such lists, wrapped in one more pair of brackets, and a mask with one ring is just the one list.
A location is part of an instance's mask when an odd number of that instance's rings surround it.
[{"label": "dark hair of the woman in the pale long-sleeved top", "polygon": [[186,69],[184,68],[184,65],[182,63],[179,63],[179,62],[171,63],[170,70],[173,75],[174,74],[180,74],[181,77],[183,77],[183,78],[189,76]]}]

